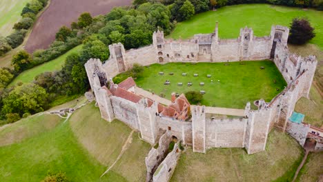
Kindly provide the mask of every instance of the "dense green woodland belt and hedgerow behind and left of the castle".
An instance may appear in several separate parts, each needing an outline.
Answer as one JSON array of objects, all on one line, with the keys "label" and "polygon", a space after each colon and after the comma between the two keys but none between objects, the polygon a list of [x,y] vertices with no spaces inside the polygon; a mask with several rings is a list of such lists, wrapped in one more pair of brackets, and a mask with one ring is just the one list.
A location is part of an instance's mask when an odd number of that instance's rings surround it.
[{"label": "dense green woodland belt and hedgerow behind and left of the castle", "polygon": [[[152,43],[152,34],[157,29],[164,30],[167,35],[178,21],[190,19],[199,12],[238,3],[273,3],[323,10],[323,0],[135,0],[132,7],[114,8],[108,14],[94,18],[84,12],[77,22],[71,23],[70,28],[60,28],[56,40],[47,50],[37,50],[32,54],[22,50],[12,57],[14,69],[0,68],[0,119],[14,122],[48,109],[49,103],[57,97],[86,92],[89,83],[84,63],[90,58],[106,61],[111,43],[121,42],[126,49],[139,48]],[[14,25],[16,31],[0,38],[0,55],[23,42],[27,29],[46,4],[47,0],[32,0],[23,8],[23,19]],[[81,52],[70,54],[60,71],[39,74],[33,83],[7,87],[20,72],[55,59],[80,44],[83,44]]]}]

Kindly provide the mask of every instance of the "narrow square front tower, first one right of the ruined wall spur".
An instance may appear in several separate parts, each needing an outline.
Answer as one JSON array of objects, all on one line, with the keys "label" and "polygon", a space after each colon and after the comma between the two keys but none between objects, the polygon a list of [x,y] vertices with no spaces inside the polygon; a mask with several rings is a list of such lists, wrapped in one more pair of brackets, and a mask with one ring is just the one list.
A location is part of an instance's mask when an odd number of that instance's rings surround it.
[{"label": "narrow square front tower, first one right of the ruined wall spur", "polygon": [[206,152],[205,106],[191,105],[193,152]]}]

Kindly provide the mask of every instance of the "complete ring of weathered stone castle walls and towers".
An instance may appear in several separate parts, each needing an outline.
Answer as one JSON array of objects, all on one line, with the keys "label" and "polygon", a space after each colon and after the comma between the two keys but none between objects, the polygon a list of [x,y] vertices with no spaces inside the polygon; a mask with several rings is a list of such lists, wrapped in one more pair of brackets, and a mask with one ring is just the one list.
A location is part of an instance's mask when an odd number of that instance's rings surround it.
[{"label": "complete ring of weathered stone castle walls and towers", "polygon": [[[148,143],[157,143],[159,136],[168,130],[184,145],[193,145],[194,152],[206,152],[208,148],[246,148],[248,154],[253,154],[265,149],[268,132],[273,127],[286,130],[296,101],[309,95],[317,61],[314,56],[303,58],[291,54],[287,48],[288,32],[286,27],[273,26],[269,36],[255,37],[251,28],[242,28],[237,39],[219,39],[216,26],[211,34],[174,41],[164,39],[164,33],[157,31],[153,34],[153,44],[144,48],[124,50],[121,43],[109,45],[110,58],[104,64],[90,59],[85,65],[86,72],[101,117],[106,121],[123,121],[138,130]],[[106,88],[108,79],[132,68],[133,63],[262,59],[272,59],[288,85],[270,103],[257,101],[258,110],[251,110],[247,103],[244,117],[219,119],[211,117],[216,113],[208,112],[206,107],[191,105],[192,119],[177,120],[161,116],[159,103],[140,97],[136,89],[124,90],[133,94],[127,99],[115,96]]]}]

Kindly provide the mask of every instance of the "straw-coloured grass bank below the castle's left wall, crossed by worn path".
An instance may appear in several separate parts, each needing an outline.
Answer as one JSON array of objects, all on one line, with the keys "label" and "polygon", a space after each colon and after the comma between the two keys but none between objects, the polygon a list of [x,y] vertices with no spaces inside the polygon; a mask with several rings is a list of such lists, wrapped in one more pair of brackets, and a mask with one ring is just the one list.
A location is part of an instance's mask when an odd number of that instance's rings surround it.
[{"label": "straw-coloured grass bank below the castle's left wall, crossed by worn path", "polygon": [[[95,156],[97,161],[106,166],[115,162],[131,132],[131,129],[120,121],[108,123],[101,119],[99,108],[96,108],[93,103],[75,112],[70,119],[70,124],[78,141],[92,156]],[[146,179],[145,156],[151,147],[138,136],[139,133],[133,133],[133,140],[128,150],[111,171],[112,174],[115,172],[124,176],[127,181]]]}]

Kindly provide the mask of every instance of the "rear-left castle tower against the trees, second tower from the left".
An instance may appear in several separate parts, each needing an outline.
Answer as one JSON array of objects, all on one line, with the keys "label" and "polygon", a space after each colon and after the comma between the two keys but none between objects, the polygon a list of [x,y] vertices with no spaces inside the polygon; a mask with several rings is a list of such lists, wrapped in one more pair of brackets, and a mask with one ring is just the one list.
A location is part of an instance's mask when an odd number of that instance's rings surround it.
[{"label": "rear-left castle tower against the trees, second tower from the left", "polygon": [[118,65],[119,72],[124,72],[127,70],[125,63],[125,54],[124,45],[122,43],[114,43],[109,45],[110,58],[109,61],[116,61]]}]

